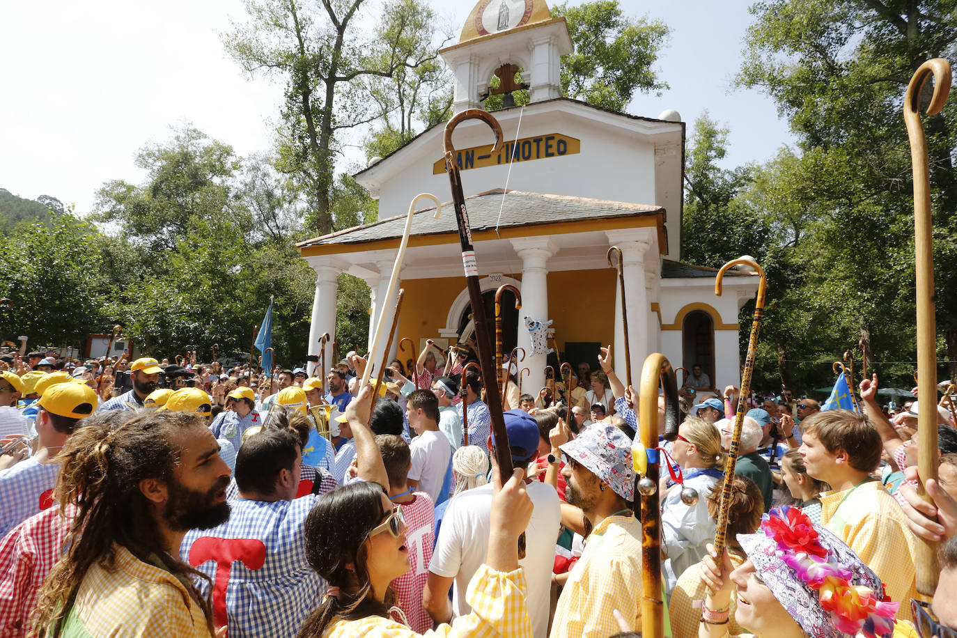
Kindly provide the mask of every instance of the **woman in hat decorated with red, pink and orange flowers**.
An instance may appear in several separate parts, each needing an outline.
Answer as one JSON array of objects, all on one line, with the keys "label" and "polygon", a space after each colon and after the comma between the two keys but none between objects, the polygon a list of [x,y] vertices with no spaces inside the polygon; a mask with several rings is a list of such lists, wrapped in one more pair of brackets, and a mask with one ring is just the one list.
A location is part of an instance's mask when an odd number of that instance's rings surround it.
[{"label": "woman in hat decorated with red, pink and orange flowers", "polygon": [[900,603],[884,600],[877,574],[798,508],[771,508],[761,529],[738,542],[747,561],[737,569],[727,551],[719,566],[711,545],[701,562],[712,593],[701,605],[699,638],[729,635],[732,596],[735,621],[757,636],[916,638],[909,623],[895,620]]}]

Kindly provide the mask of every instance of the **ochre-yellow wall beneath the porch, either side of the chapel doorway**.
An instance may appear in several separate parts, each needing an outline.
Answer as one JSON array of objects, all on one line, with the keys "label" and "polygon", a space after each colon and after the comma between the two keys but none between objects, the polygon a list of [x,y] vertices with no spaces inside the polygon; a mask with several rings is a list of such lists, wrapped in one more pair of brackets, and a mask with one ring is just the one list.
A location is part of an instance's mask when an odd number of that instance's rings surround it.
[{"label": "ochre-yellow wall beneath the porch, either side of the chapel doorway", "polygon": [[[521,273],[511,273],[521,279]],[[566,341],[614,340],[614,286],[616,271],[604,268],[591,271],[548,273],[548,318],[555,329],[560,350]],[[434,279],[404,279],[397,339],[409,337],[418,347],[423,339],[438,339],[445,327],[449,308],[465,289],[462,276]],[[520,311],[521,315],[521,311]],[[536,318],[545,319],[545,318]]]}]

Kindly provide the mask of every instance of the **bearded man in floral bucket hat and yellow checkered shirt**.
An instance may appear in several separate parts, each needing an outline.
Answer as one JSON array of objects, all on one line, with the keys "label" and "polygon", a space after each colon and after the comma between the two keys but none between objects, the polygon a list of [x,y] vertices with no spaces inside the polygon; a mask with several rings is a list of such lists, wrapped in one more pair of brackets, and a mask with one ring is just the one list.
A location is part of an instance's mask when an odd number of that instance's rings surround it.
[{"label": "bearded man in floral bucket hat and yellow checkered shirt", "polygon": [[632,441],[614,426],[595,424],[560,450],[566,459],[566,500],[581,508],[591,534],[568,573],[550,638],[610,636],[620,630],[615,609],[630,627],[640,627],[641,521],[629,507]]}]

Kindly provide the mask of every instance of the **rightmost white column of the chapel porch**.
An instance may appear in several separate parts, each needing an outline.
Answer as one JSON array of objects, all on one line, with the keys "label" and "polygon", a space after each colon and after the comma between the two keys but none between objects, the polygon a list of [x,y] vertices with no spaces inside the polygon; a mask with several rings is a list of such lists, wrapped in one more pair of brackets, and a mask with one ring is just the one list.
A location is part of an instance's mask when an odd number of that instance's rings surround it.
[{"label": "rightmost white column of the chapel porch", "polygon": [[[622,275],[625,280],[625,311],[628,317],[627,340],[632,364],[632,385],[638,389],[641,367],[648,356],[648,294],[645,290],[644,254],[651,242],[643,240],[622,241],[620,232],[610,232],[609,241],[621,249]],[[614,296],[614,373],[621,383],[628,383],[625,365],[625,330],[622,320],[620,280],[615,284]]]}]

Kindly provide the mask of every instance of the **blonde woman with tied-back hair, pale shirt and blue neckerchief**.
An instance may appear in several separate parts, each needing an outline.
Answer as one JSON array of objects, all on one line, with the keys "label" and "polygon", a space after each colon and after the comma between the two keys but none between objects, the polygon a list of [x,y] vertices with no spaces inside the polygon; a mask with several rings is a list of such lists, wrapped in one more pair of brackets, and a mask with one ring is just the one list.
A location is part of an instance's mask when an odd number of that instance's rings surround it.
[{"label": "blonde woman with tied-back hair, pale shirt and blue neckerchief", "polygon": [[678,429],[671,455],[681,466],[683,486],[698,491],[698,501],[681,500],[682,485],[675,484],[661,505],[661,566],[665,591],[671,596],[684,570],[704,558],[705,543],[715,535],[715,522],[708,515],[707,498],[723,478],[721,435],[712,424],[689,416]]}]

